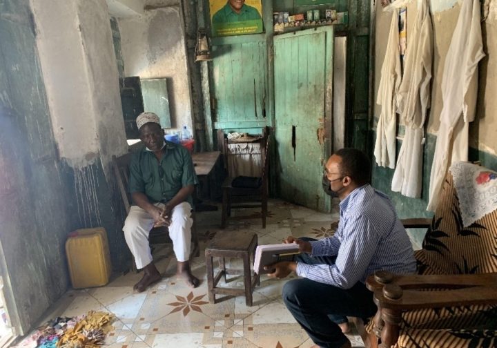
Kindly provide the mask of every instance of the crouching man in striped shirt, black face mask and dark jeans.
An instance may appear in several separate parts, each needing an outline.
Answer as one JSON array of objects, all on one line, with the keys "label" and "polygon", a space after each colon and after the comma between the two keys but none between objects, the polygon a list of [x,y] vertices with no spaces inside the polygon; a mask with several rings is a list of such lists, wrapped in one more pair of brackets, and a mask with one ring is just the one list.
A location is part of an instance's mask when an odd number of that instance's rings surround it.
[{"label": "crouching man in striped shirt, black face mask and dark jeans", "polygon": [[315,347],[351,347],[338,326],[347,316],[376,313],[366,278],[378,270],[414,273],[416,260],[409,237],[389,197],[369,185],[371,162],[361,151],[343,148],[325,168],[329,189],[340,198],[340,222],[333,237],[286,238],[299,244],[296,262],[278,262],[270,276],[294,271],[302,279],[284,285],[283,300]]}]

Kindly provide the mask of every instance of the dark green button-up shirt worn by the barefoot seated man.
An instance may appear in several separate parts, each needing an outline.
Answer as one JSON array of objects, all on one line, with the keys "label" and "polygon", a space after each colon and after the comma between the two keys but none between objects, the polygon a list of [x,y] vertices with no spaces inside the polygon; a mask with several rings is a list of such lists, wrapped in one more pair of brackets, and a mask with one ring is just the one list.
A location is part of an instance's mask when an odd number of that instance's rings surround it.
[{"label": "dark green button-up shirt worn by the barefoot seated man", "polygon": [[[146,148],[133,155],[130,162],[130,193],[144,193],[152,203],[167,203],[184,186],[198,184],[188,150],[172,142],[166,142],[164,149],[166,153],[160,162]],[[191,196],[187,202],[193,206]]]}]

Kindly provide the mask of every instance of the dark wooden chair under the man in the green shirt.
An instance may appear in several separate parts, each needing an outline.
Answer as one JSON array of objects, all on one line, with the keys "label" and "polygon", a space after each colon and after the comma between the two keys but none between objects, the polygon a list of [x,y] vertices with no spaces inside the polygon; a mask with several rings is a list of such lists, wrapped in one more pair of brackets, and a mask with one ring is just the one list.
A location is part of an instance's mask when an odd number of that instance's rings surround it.
[{"label": "dark wooden chair under the man in the green shirt", "polygon": [[[125,155],[116,157],[113,155],[112,157],[112,164],[113,164],[113,169],[117,181],[117,186],[119,186],[119,192],[121,193],[121,198],[123,200],[124,204],[124,209],[126,211],[126,216],[129,214],[130,211],[130,206],[132,204],[131,200],[131,195],[128,192],[128,185],[129,185],[129,164],[131,161],[131,156],[133,153],[126,153]],[[196,229],[196,223],[195,223],[195,211],[192,212],[192,219],[193,219],[193,226],[191,229],[191,240],[192,240],[192,247],[191,247],[191,252],[190,256],[199,256],[200,255],[200,250],[199,250],[199,242],[198,242],[198,236],[197,236],[197,229]],[[150,244],[150,249],[153,251],[156,247],[159,247],[162,244],[172,244],[173,241],[170,240],[169,238],[169,230],[166,226],[162,227],[156,227],[150,230],[150,234],[148,235],[148,242]],[[133,255],[132,255],[133,258]],[[157,261],[157,260],[155,260]],[[133,258],[132,264],[131,264],[131,269],[133,271],[137,271],[136,265],[135,265],[135,259]]]}]

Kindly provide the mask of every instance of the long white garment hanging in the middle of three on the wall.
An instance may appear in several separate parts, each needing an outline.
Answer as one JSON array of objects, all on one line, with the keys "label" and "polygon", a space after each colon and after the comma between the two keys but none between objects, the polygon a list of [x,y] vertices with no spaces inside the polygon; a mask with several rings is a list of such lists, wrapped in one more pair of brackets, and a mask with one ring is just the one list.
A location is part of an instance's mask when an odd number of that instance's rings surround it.
[{"label": "long white garment hanging in the middle of three on the wall", "polygon": [[400,146],[392,191],[407,197],[421,197],[422,156],[425,144],[425,119],[430,106],[433,28],[427,0],[421,0],[416,21],[407,43],[405,69],[400,84],[398,113],[405,123],[405,137]]}]

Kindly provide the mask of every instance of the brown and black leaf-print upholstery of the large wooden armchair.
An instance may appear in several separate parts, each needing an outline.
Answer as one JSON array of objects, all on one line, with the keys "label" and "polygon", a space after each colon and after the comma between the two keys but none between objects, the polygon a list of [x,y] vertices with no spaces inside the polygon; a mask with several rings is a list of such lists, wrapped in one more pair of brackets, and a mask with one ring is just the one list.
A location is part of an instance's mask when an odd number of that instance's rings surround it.
[{"label": "brown and black leaf-print upholstery of the large wooden armchair", "polygon": [[[497,272],[497,211],[464,227],[452,176],[440,197],[422,250],[416,251],[419,274]],[[366,329],[373,329],[373,320]],[[497,347],[497,306],[420,309],[402,314],[395,346]]]}]

